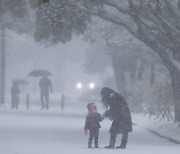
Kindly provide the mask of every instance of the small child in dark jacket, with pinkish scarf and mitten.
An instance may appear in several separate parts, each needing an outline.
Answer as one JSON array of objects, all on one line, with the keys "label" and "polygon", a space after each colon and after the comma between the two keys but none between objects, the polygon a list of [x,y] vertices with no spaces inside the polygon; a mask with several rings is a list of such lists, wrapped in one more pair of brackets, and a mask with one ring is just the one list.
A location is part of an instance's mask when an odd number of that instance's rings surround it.
[{"label": "small child in dark jacket, with pinkish scarf and mitten", "polygon": [[99,137],[99,128],[100,122],[104,119],[96,109],[96,105],[94,103],[89,103],[87,105],[88,115],[86,116],[85,126],[84,126],[84,134],[87,135],[89,130],[90,136],[88,141],[88,148],[92,147],[92,140],[94,138],[95,148],[99,148],[98,146],[98,137]]}]

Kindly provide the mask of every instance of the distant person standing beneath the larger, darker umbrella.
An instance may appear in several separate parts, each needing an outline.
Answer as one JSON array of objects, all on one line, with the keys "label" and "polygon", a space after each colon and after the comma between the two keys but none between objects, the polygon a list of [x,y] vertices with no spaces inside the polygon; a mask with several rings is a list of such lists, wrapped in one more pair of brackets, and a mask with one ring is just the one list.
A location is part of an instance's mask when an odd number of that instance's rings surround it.
[{"label": "distant person standing beneath the larger, darker umbrella", "polygon": [[47,76],[43,76],[39,81],[40,86],[40,99],[41,99],[41,109],[46,107],[49,109],[49,92],[52,92],[52,83]]}]

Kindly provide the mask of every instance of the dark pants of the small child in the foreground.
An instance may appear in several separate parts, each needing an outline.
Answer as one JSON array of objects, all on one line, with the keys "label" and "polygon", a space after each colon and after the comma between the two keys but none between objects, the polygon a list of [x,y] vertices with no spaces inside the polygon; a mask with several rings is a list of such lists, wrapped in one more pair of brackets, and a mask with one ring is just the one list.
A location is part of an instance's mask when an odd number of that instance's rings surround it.
[{"label": "dark pants of the small child in the foreground", "polygon": [[90,133],[90,136],[89,136],[88,147],[92,146],[93,138],[94,138],[95,147],[98,147],[99,128],[90,129],[89,133]]}]

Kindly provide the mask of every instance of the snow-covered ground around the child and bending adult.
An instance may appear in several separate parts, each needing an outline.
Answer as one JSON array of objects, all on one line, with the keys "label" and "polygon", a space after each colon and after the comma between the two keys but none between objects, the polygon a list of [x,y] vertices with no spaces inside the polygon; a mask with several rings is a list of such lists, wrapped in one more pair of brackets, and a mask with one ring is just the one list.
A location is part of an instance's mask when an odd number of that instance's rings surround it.
[{"label": "snow-covered ground around the child and bending adult", "polygon": [[[103,109],[98,106],[100,113]],[[127,149],[104,149],[109,143],[111,121],[105,119],[100,129],[99,149],[88,149],[88,136],[83,127],[87,113],[86,104],[73,102],[66,104],[64,111],[51,106],[49,111],[40,106],[25,110],[0,110],[0,154],[179,154],[180,145],[160,138],[147,130],[151,128],[179,137],[180,129],[173,122],[159,122],[132,114],[133,132],[129,134]],[[170,127],[172,126],[172,127]],[[173,135],[172,135],[173,134]],[[118,136],[117,145],[120,144]]]}]

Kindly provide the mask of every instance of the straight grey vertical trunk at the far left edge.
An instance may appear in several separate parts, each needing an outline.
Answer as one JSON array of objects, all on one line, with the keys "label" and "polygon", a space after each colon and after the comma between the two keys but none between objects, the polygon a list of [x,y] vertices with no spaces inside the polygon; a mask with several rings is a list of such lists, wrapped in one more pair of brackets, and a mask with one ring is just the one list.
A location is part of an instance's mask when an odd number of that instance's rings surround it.
[{"label": "straight grey vertical trunk at the far left edge", "polygon": [[0,104],[5,103],[5,68],[6,68],[6,49],[5,49],[5,28],[1,29],[1,49],[0,49]]}]

